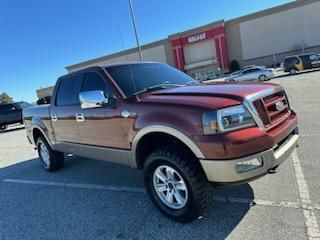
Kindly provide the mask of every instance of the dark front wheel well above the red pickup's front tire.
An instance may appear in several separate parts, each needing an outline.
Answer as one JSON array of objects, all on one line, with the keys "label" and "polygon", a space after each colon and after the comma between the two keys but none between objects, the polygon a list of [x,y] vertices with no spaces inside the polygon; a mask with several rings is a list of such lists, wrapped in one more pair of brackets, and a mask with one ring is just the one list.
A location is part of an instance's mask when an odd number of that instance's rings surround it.
[{"label": "dark front wheel well above the red pickup's front tire", "polygon": [[139,169],[143,168],[146,158],[157,148],[165,146],[175,146],[187,151],[190,156],[196,159],[194,153],[181,140],[166,133],[149,133],[140,139],[136,150],[136,161]]}]

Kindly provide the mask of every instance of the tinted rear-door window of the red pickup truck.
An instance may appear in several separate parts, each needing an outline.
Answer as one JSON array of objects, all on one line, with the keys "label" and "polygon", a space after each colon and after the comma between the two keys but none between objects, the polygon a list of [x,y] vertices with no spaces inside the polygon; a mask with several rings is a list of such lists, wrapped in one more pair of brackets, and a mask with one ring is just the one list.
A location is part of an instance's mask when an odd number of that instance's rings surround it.
[{"label": "tinted rear-door window of the red pickup truck", "polygon": [[58,106],[80,104],[79,93],[81,88],[81,76],[71,76],[61,80],[57,93],[56,104]]}]

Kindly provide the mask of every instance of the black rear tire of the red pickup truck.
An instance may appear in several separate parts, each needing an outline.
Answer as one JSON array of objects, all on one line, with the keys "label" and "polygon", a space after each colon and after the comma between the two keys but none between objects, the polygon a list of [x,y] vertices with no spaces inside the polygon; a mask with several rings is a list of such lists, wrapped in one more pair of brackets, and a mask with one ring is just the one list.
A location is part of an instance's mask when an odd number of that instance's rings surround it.
[{"label": "black rear tire of the red pickup truck", "polygon": [[[40,153],[42,144],[44,144],[48,150],[48,155],[49,155],[48,164],[44,161]],[[37,139],[37,151],[39,154],[39,159],[45,170],[49,172],[54,172],[63,168],[64,154],[62,152],[54,151],[43,137],[38,137]]]}]

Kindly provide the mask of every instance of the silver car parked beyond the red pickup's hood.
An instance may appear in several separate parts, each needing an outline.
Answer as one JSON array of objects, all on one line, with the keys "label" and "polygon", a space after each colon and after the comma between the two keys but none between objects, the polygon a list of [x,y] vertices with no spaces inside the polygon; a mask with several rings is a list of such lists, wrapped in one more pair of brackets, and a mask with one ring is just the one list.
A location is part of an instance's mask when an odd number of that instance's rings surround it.
[{"label": "silver car parked beyond the red pickup's hood", "polygon": [[225,81],[266,81],[272,78],[274,78],[273,72],[265,67],[248,67],[232,73],[229,77],[225,78]]}]

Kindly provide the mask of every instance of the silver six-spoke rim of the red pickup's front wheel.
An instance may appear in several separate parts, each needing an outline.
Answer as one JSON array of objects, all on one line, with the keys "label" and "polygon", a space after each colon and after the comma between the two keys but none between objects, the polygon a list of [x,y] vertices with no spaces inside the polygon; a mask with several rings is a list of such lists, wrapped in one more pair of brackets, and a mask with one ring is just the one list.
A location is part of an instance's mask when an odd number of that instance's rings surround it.
[{"label": "silver six-spoke rim of the red pickup's front wheel", "polygon": [[159,166],[153,173],[153,187],[161,202],[173,209],[183,208],[188,201],[188,188],[172,167]]}]

